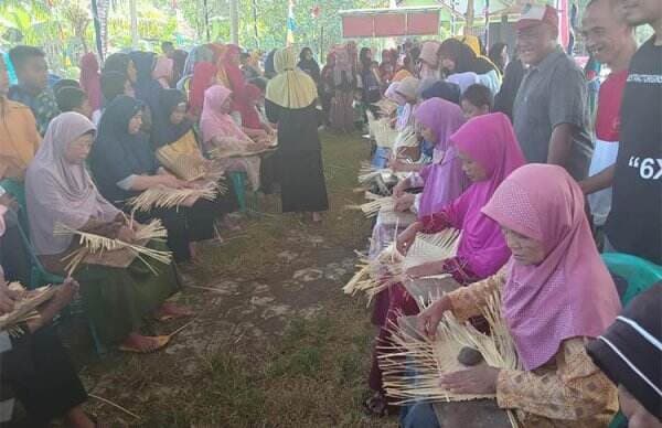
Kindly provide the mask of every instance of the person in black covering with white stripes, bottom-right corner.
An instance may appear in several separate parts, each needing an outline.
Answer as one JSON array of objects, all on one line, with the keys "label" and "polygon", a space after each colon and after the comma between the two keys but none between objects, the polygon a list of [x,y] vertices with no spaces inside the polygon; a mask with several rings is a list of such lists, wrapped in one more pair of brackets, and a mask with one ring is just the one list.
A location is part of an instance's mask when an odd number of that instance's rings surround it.
[{"label": "person in black covering with white stripes, bottom-right corner", "polygon": [[662,282],[639,295],[588,345],[596,365],[618,385],[629,428],[662,427]]}]

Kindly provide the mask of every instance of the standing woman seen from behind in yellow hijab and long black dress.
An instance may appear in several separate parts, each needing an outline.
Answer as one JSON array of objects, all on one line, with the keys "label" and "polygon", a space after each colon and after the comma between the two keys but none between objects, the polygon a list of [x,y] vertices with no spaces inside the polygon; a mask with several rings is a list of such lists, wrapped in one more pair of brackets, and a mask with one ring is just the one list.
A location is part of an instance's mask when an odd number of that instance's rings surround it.
[{"label": "standing woman seen from behind in yellow hijab and long black dress", "polygon": [[278,124],[282,211],[311,212],[313,222],[319,222],[329,202],[314,108],[317,88],[310,76],[296,69],[296,61],[291,49],[274,56],[278,75],[267,86],[267,116]]}]

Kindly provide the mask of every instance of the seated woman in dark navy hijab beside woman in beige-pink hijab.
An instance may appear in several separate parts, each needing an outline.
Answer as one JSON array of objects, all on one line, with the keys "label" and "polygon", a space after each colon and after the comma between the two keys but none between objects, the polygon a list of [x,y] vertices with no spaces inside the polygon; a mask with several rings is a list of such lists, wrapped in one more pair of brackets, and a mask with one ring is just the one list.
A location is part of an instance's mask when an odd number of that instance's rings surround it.
[{"label": "seated woman in dark navy hijab beside woman in beige-pink hijab", "polygon": [[[181,189],[188,185],[159,168],[148,137],[140,131],[143,106],[121,95],[106,108],[89,165],[102,195],[118,207],[140,192],[166,186]],[[195,257],[192,243],[213,237],[214,210],[209,201],[199,200],[191,207],[152,210],[136,213],[139,222],[161,218],[168,229],[168,246],[175,261]]]}]

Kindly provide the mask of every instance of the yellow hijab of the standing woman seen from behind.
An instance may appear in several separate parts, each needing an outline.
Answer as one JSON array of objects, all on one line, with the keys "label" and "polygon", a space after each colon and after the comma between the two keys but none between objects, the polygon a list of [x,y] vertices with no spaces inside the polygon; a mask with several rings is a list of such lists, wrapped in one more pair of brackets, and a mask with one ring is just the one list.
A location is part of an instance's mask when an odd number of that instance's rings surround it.
[{"label": "yellow hijab of the standing woman seen from behind", "polygon": [[297,69],[297,54],[291,47],[277,51],[274,68],[278,75],[267,85],[267,99],[285,108],[305,108],[318,97],[312,78]]}]

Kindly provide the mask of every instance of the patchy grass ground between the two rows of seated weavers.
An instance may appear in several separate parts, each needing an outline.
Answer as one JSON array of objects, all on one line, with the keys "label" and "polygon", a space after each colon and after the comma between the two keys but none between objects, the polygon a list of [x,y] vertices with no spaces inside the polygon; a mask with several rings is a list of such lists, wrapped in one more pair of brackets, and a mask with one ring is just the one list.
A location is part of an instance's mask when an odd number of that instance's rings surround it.
[{"label": "patchy grass ground between the two rows of seated weavers", "polygon": [[[356,136],[323,135],[331,208],[321,225],[279,213],[277,196],[257,218],[185,277],[179,300],[199,313],[153,355],[79,359],[90,398],[111,426],[395,427],[363,416],[374,330],[365,300],[342,293],[370,224],[345,205],[369,156]],[[169,333],[182,323],[154,324]]]}]

